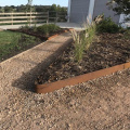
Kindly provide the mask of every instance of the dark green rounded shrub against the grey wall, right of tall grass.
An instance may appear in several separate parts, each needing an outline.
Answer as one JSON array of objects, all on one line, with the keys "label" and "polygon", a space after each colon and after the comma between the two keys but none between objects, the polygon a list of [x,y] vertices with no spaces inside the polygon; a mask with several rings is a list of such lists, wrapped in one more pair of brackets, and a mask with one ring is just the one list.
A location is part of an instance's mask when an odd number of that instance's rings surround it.
[{"label": "dark green rounded shrub against the grey wall, right of tall grass", "polygon": [[118,32],[120,27],[112,21],[110,17],[103,18],[98,25],[96,30],[98,32],[110,32],[115,34]]}]

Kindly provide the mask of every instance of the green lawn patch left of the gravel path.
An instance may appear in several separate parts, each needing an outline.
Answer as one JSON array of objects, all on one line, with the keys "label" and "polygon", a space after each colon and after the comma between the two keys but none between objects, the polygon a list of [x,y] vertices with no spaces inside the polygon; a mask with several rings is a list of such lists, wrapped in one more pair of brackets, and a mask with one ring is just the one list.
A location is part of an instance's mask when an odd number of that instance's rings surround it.
[{"label": "green lawn patch left of the gravel path", "polygon": [[37,44],[40,39],[22,32],[0,31],[0,61]]}]

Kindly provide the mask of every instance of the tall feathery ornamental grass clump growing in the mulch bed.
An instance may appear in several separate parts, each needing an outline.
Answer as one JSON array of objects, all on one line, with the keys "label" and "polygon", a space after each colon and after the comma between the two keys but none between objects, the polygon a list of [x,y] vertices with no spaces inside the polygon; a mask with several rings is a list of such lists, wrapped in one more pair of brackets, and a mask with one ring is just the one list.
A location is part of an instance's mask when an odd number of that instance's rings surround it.
[{"label": "tall feathery ornamental grass clump growing in the mulch bed", "polygon": [[89,18],[83,23],[83,30],[72,30],[74,47],[75,47],[75,61],[80,62],[82,60],[84,51],[87,51],[93,42],[96,34],[96,25],[94,22],[90,22]]}]

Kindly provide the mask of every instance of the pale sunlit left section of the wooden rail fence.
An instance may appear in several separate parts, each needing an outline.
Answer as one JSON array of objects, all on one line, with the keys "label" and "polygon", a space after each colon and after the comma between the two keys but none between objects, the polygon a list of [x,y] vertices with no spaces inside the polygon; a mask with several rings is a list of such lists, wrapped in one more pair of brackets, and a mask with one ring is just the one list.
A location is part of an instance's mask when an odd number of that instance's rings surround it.
[{"label": "pale sunlit left section of the wooden rail fence", "polygon": [[37,23],[47,23],[48,12],[12,12],[12,13],[0,13],[0,24],[21,24],[27,23],[32,24],[34,22]]}]

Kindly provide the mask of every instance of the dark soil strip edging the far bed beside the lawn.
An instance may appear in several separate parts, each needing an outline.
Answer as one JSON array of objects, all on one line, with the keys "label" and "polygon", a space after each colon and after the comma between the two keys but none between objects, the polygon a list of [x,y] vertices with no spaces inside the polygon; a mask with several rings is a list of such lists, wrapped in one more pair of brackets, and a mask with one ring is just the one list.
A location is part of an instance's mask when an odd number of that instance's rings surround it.
[{"label": "dark soil strip edging the far bed beside the lawn", "polygon": [[49,34],[48,36],[39,34],[39,32],[34,31],[31,29],[21,29],[21,28],[18,28],[18,29],[9,29],[9,30],[24,32],[26,35],[30,35],[30,36],[35,36],[37,38],[40,38],[41,40],[48,40],[49,37],[52,37],[54,35],[60,35],[60,34],[65,32],[66,30],[69,30],[69,29],[68,28],[61,28],[60,30],[56,30],[52,34]]}]

